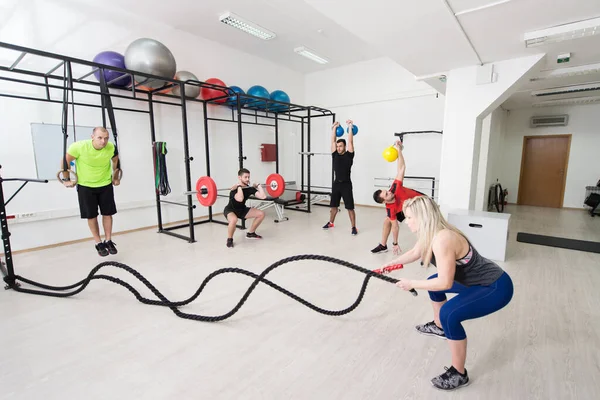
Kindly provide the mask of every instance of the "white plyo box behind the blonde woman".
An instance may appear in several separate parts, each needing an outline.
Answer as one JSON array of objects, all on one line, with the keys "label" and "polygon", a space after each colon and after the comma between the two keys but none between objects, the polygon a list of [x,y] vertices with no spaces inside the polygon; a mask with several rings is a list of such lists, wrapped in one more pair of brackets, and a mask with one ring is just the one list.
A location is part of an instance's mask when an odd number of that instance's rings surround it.
[{"label": "white plyo box behind the blonde woman", "polygon": [[447,219],[467,236],[479,254],[493,261],[506,260],[510,214],[450,210]]}]

